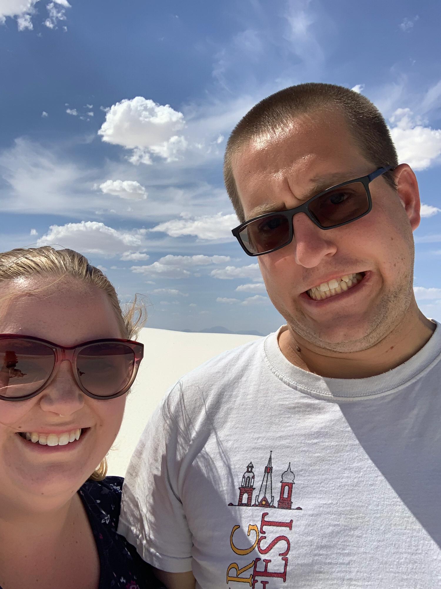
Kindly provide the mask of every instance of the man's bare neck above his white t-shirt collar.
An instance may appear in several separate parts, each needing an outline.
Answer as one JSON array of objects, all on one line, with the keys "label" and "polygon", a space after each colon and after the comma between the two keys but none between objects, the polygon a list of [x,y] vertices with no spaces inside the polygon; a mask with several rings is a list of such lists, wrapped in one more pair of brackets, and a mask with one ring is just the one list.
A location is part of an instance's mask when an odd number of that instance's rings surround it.
[{"label": "man's bare neck above his white t-shirt collar", "polygon": [[368,378],[396,368],[412,358],[429,341],[435,323],[415,306],[372,348],[338,353],[320,349],[299,337],[291,327],[279,335],[279,347],[293,365],[328,378]]}]

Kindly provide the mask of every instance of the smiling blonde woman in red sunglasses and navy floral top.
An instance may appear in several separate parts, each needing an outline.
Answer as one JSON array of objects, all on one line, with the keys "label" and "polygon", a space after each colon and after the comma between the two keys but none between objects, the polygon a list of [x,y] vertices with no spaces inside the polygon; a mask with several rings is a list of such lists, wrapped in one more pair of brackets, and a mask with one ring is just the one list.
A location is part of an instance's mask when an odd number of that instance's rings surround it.
[{"label": "smiling blonde woman in red sunglasses and navy floral top", "polygon": [[158,587],[105,478],[142,359],[134,315],[79,253],[0,254],[0,589]]}]

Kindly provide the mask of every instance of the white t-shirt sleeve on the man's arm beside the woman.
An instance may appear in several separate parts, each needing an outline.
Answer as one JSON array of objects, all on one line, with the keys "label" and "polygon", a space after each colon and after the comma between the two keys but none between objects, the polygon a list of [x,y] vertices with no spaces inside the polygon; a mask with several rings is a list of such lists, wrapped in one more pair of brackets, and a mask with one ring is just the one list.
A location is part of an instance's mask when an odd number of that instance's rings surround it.
[{"label": "white t-shirt sleeve on the man's arm beside the woman", "polygon": [[192,534],[182,506],[182,461],[190,432],[179,382],[146,425],[123,484],[118,532],[139,555],[170,573],[192,569]]}]

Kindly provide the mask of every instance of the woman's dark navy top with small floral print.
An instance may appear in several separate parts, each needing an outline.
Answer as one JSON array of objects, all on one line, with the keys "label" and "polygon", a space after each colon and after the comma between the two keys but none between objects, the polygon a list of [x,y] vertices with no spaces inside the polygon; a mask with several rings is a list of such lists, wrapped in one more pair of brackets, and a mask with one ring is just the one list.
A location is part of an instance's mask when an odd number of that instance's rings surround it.
[{"label": "woman's dark navy top with small floral print", "polygon": [[98,548],[98,589],[165,589],[128,541],[116,533],[121,508],[122,477],[86,481],[79,495]]}]

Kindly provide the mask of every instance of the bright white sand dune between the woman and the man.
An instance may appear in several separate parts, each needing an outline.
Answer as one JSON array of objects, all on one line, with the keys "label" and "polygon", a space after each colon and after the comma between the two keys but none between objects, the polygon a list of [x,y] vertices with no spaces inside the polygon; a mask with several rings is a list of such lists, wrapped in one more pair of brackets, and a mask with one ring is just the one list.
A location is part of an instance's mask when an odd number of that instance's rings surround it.
[{"label": "bright white sand dune between the woman and the man", "polygon": [[145,346],[144,358],[108,455],[108,474],[124,476],[146,422],[170,386],[205,360],[255,339],[253,335],[142,329],[138,340]]}]

